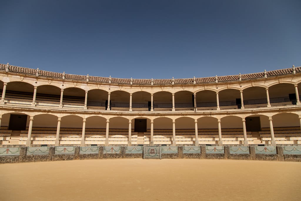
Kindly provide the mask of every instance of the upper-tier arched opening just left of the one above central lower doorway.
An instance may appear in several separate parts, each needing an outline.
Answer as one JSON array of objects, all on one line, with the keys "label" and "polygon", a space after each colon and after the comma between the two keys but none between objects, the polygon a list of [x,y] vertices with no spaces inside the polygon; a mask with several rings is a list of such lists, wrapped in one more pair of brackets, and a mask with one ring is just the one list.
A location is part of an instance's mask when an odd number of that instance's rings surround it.
[{"label": "upper-tier arched opening just left of the one above central lower doorway", "polygon": [[126,91],[113,91],[110,96],[111,110],[125,110],[129,111],[130,108],[130,94]]}]

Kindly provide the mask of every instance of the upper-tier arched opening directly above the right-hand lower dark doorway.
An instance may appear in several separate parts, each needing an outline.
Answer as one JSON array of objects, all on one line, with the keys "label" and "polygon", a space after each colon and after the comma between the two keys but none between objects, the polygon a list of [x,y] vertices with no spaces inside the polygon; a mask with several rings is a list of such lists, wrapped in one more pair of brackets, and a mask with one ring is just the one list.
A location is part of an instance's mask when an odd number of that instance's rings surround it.
[{"label": "upper-tier arched opening directly above the right-hand lower dark doorway", "polygon": [[264,87],[253,86],[243,90],[245,108],[267,107],[266,91]]}]

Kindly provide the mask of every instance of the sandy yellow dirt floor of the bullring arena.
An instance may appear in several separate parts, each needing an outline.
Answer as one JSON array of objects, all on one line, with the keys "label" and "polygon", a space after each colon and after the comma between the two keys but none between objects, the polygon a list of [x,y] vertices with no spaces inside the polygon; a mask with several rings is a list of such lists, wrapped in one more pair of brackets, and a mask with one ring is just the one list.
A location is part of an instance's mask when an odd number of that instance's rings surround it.
[{"label": "sandy yellow dirt floor of the bullring arena", "polygon": [[107,159],[0,165],[0,200],[300,200],[301,163]]}]

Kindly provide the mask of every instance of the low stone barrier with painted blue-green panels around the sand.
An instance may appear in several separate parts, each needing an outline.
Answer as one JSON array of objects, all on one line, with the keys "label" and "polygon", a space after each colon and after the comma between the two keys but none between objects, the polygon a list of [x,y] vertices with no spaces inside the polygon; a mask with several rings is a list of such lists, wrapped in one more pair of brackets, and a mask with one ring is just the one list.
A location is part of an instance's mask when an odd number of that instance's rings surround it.
[{"label": "low stone barrier with painted blue-green panels around the sand", "polygon": [[116,158],[301,162],[301,146],[24,146],[0,148],[0,163]]}]

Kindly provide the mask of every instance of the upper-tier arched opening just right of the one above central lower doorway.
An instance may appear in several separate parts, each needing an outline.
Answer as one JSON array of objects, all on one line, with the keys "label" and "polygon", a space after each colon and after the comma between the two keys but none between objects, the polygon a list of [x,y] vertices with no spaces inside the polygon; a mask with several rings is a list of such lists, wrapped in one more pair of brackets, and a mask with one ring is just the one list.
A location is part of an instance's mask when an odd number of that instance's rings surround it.
[{"label": "upper-tier arched opening just right of the one above central lower doorway", "polygon": [[160,91],[154,93],[154,110],[171,111],[172,110],[172,93]]}]

